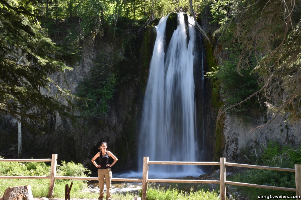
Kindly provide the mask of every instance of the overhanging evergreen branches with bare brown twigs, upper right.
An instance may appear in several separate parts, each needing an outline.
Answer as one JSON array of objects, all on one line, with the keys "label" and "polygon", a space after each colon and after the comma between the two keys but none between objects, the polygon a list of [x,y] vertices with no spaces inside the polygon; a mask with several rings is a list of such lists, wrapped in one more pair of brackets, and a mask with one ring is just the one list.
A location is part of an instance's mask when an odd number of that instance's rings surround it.
[{"label": "overhanging evergreen branches with bare brown twigs, upper right", "polygon": [[239,53],[237,76],[247,73],[243,69],[259,75],[260,88],[250,97],[260,94],[259,99],[265,100],[266,108],[275,114],[273,119],[287,112],[290,120],[299,119],[301,45],[297,41],[301,39],[301,2],[212,1],[211,6],[213,21],[221,24],[215,33],[219,42],[231,53]]}]

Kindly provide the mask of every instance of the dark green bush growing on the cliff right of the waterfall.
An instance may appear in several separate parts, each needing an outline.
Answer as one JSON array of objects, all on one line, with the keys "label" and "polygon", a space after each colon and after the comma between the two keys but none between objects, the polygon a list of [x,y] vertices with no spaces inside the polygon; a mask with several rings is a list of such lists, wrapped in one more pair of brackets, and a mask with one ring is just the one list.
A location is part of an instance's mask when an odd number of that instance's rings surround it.
[{"label": "dark green bush growing on the cliff right of the waterfall", "polygon": [[[239,49],[239,45],[237,46]],[[246,66],[238,71],[237,63],[240,62],[239,50],[230,49],[229,51],[226,50],[226,52],[229,53],[228,58],[224,58],[222,64],[206,75],[216,79],[221,85],[219,94],[224,99],[225,108],[242,102],[259,89],[258,77],[255,74],[251,74],[252,67]],[[251,66],[253,64],[255,64],[253,60],[250,60],[248,63]],[[236,106],[234,110],[228,110],[228,114],[237,114],[247,121],[247,118],[251,117],[250,110],[257,111],[259,107],[260,104],[257,97],[252,97]]]}]

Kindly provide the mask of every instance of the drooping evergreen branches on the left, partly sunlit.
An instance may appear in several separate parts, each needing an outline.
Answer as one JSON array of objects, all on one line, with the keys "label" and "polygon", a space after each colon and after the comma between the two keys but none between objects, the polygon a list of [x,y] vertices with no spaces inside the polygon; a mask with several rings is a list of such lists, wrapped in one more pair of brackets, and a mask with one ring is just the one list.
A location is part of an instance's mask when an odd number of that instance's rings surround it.
[{"label": "drooping evergreen branches on the left, partly sunlit", "polygon": [[[22,121],[47,122],[49,112],[76,120],[70,91],[51,78],[54,73],[72,70],[78,57],[45,37],[36,19],[36,1],[0,0],[0,112]],[[57,95],[48,94],[54,85]],[[46,88],[48,92],[42,92]],[[67,103],[57,101],[63,98]],[[39,111],[36,115],[34,110]]]}]

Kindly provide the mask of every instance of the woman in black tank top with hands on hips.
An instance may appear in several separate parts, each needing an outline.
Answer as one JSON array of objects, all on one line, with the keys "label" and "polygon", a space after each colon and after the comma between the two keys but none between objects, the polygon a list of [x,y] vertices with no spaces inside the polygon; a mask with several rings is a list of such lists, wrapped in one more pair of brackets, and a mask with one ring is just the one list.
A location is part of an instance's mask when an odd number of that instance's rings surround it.
[{"label": "woman in black tank top with hands on hips", "polygon": [[[107,196],[106,199],[111,199],[111,181],[112,181],[112,171],[111,167],[117,162],[116,156],[112,152],[107,151],[107,142],[102,142],[101,149],[93,158],[92,163],[98,167],[98,183],[99,183],[99,197],[98,200],[104,199],[104,178],[106,179],[107,185]],[[100,164],[97,165],[95,160],[99,157]],[[114,159],[112,164],[109,164],[109,157]]]}]

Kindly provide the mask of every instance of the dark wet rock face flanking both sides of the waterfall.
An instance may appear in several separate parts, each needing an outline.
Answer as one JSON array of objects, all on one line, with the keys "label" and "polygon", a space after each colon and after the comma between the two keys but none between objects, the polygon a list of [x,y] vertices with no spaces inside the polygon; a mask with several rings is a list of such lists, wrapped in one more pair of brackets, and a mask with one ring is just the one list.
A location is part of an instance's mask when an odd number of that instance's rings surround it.
[{"label": "dark wet rock face flanking both sides of the waterfall", "polygon": [[[174,15],[176,17],[176,15]],[[170,20],[177,22],[177,20]],[[172,24],[171,24],[172,26]],[[176,26],[175,26],[176,27]],[[172,30],[169,30],[172,32]],[[119,79],[123,82],[117,86],[114,99],[110,103],[110,112],[106,120],[82,120],[81,124],[85,127],[73,127],[68,121],[62,121],[57,115],[51,115],[51,130],[42,136],[32,136],[27,133],[28,141],[34,141],[37,149],[46,149],[46,153],[58,154],[59,160],[73,160],[81,162],[93,168],[91,158],[98,151],[101,142],[108,143],[108,150],[112,151],[119,158],[117,170],[135,170],[137,141],[139,134],[140,115],[143,105],[144,90],[147,83],[149,63],[152,56],[152,49],[156,39],[154,27],[146,29],[143,41],[138,38],[136,41],[137,57],[139,60],[126,56],[125,61],[121,61],[118,66],[114,66]],[[200,54],[202,54],[203,44],[198,38]],[[86,41],[82,46],[82,60],[78,66],[73,66],[73,71],[67,72],[67,82],[64,83],[62,75],[56,74],[53,79],[76,92],[78,83],[83,77],[88,76],[89,69],[94,65],[100,49],[105,49],[110,58],[114,55],[112,45],[104,41]],[[131,51],[131,49],[127,49]],[[204,53],[206,56],[206,53]],[[202,55],[195,55],[202,57]],[[198,62],[205,61],[199,59]],[[205,67],[206,68],[206,67]],[[206,69],[205,69],[206,70]],[[196,64],[194,70],[197,104],[197,131],[199,135],[200,159],[211,161],[214,148],[214,127],[216,123],[216,112],[211,104],[210,82],[202,82],[201,64]],[[204,84],[205,91],[201,92]],[[54,95],[54,94],[52,94]],[[31,139],[30,139],[31,138]],[[30,140],[29,140],[30,139]],[[205,139],[205,141],[204,141]],[[206,142],[212,141],[212,142]],[[28,143],[32,143],[28,142]],[[48,157],[49,157],[48,156]]]}]

